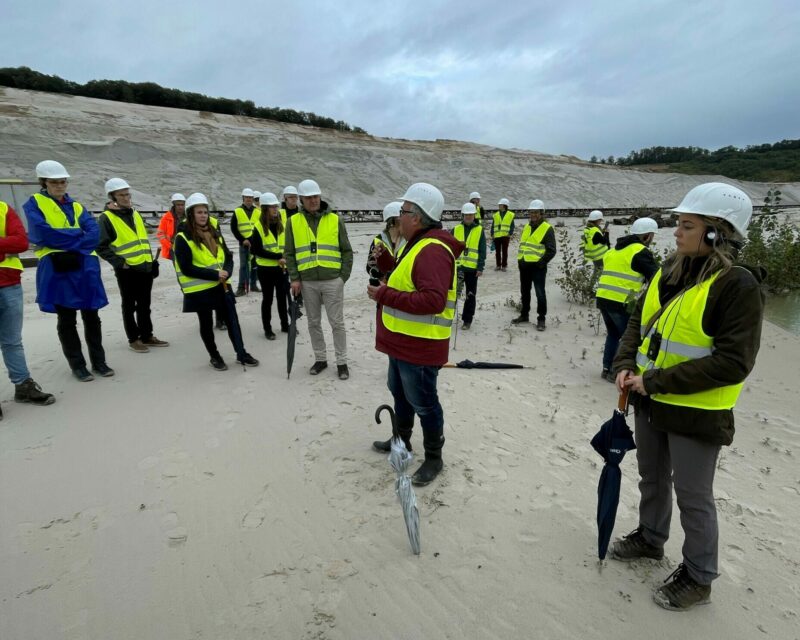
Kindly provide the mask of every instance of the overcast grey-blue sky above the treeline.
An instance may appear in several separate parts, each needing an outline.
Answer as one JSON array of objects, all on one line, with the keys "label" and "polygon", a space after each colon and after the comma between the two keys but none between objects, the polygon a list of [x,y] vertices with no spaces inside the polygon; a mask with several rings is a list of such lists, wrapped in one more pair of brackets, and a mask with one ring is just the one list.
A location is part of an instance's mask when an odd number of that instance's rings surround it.
[{"label": "overcast grey-blue sky above the treeline", "polygon": [[585,159],[800,138],[798,0],[11,1],[0,66],[374,135]]}]

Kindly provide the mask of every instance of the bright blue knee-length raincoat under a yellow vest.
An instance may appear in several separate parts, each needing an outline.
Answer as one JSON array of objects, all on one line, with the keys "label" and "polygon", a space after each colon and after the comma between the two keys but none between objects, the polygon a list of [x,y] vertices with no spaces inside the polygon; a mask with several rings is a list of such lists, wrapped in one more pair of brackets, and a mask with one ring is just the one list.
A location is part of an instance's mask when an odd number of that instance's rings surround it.
[{"label": "bright blue knee-length raincoat under a yellow vest", "polygon": [[[41,194],[47,198],[47,191]],[[57,201],[56,201],[57,202]],[[69,195],[57,202],[70,223],[75,221],[75,211]],[[100,260],[91,255],[100,239],[100,228],[88,211],[80,217],[78,229],[54,229],[44,219],[36,199],[31,196],[22,207],[28,219],[28,238],[32,245],[74,251],[79,255],[80,268],[58,273],[53,268],[51,255],[44,256],[36,268],[36,302],[39,308],[55,313],[56,305],[69,309],[100,309],[108,304],[103,280],[100,277]]]}]

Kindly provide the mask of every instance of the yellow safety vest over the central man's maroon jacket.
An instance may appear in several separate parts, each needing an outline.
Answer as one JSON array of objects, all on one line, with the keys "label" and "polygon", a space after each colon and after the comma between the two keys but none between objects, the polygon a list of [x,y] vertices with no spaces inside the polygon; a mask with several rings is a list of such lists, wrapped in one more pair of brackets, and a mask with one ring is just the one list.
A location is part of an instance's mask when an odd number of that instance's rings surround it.
[{"label": "yellow safety vest over the central man's maroon jacket", "polygon": [[[414,281],[411,279],[411,274],[414,270],[414,260],[416,260],[419,252],[430,244],[438,244],[444,247],[451,256],[453,255],[450,247],[441,240],[423,238],[408,250],[407,255],[403,256],[403,259],[389,276],[387,285],[398,291],[416,291],[417,288],[414,286]],[[445,305],[444,311],[436,314],[418,315],[383,305],[381,320],[383,321],[383,326],[394,333],[402,333],[414,338],[426,338],[428,340],[449,340],[455,315],[456,274],[454,269],[453,283],[450,285],[450,289],[447,292],[447,304]]]}]

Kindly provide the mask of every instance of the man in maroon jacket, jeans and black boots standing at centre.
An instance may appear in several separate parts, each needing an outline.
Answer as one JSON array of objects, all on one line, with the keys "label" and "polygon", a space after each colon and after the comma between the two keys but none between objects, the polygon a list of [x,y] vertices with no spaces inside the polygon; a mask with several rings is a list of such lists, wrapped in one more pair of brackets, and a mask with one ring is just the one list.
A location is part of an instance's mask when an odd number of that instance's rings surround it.
[{"label": "man in maroon jacket, jeans and black boots standing at centre", "polygon": [[[375,348],[389,356],[389,391],[394,396],[398,431],[411,450],[414,414],[422,426],[425,461],[411,481],[430,483],[442,470],[444,414],[436,391],[439,369],[447,362],[455,315],[455,261],[464,244],[442,229],[444,197],[419,182],[400,198],[400,233],[406,246],[395,260],[376,252],[378,269],[391,272],[367,294],[378,303]],[[373,447],[389,451],[391,440]]]}]

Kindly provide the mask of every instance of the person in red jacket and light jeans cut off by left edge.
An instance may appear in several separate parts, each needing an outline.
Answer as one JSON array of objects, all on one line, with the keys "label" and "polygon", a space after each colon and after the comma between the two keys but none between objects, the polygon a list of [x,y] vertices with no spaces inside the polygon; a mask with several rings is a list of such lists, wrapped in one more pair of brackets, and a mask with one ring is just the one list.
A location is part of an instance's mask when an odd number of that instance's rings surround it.
[{"label": "person in red jacket and light jeans cut off by left edge", "polygon": [[[14,209],[0,202],[0,348],[8,377],[15,385],[14,400],[31,404],[53,404],[52,393],[44,393],[34,382],[22,346],[22,262],[28,249],[25,227]],[[0,410],[0,420],[3,412]]]}]

